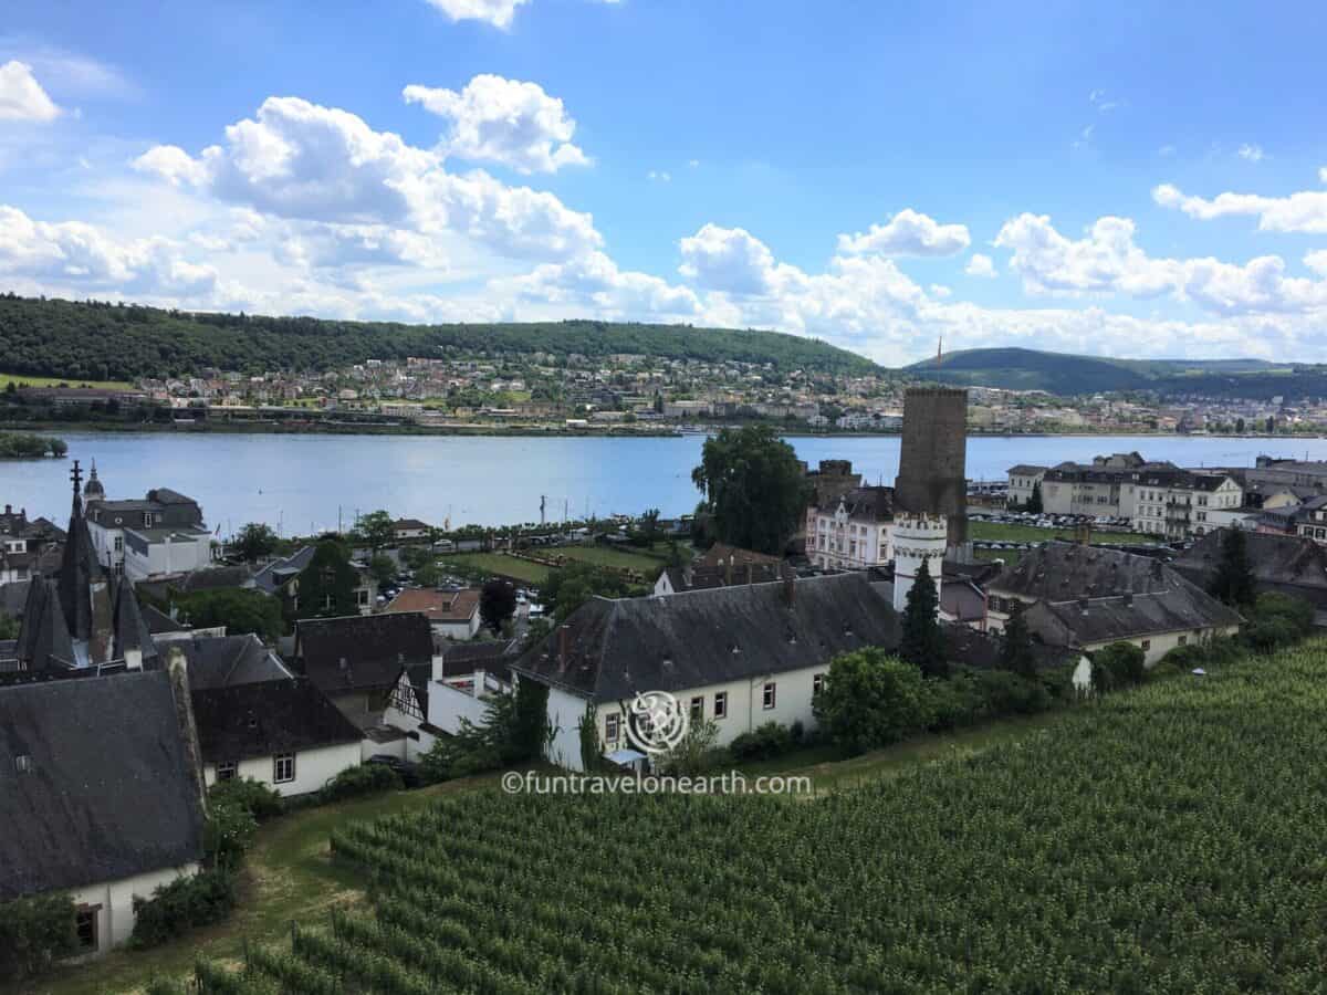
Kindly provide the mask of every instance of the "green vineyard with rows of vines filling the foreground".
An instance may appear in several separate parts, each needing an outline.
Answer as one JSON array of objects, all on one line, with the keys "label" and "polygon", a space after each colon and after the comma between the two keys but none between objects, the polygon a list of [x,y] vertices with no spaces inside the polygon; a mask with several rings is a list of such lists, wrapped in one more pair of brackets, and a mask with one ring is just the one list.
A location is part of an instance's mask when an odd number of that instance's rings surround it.
[{"label": "green vineyard with rows of vines filling the foreground", "polygon": [[479,792],[207,992],[1323,991],[1327,643],[815,801]]}]

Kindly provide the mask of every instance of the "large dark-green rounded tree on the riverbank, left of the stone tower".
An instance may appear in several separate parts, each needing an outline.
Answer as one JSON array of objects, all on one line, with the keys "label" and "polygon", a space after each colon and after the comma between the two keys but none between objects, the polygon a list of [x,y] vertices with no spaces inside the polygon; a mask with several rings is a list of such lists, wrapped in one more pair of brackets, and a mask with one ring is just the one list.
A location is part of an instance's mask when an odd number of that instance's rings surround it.
[{"label": "large dark-green rounded tree on the riverbank, left of the stone tower", "polygon": [[798,454],[768,425],[706,439],[691,480],[705,494],[714,535],[762,553],[783,552],[809,498]]}]

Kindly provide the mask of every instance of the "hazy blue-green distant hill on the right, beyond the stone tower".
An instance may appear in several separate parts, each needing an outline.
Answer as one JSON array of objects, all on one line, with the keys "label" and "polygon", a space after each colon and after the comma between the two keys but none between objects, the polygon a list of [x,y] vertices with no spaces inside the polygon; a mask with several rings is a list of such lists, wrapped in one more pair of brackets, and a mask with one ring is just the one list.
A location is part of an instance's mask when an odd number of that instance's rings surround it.
[{"label": "hazy blue-green distant hill on the right, beyond the stone tower", "polygon": [[1129,390],[1263,399],[1327,395],[1327,369],[1266,360],[1113,360],[1038,349],[963,349],[912,364],[901,373],[941,383],[1060,395]]}]

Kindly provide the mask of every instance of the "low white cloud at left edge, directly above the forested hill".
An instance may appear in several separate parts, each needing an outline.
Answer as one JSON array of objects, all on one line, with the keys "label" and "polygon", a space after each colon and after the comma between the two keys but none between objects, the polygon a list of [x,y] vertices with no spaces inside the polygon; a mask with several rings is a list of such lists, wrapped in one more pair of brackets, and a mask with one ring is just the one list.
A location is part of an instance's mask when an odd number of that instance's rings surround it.
[{"label": "low white cloud at left edge, directly above the forested hill", "polygon": [[37,222],[11,206],[0,206],[0,272],[81,288],[180,297],[210,293],[216,284],[212,267],[184,259],[180,245],[169,239],[117,241],[96,226]]}]

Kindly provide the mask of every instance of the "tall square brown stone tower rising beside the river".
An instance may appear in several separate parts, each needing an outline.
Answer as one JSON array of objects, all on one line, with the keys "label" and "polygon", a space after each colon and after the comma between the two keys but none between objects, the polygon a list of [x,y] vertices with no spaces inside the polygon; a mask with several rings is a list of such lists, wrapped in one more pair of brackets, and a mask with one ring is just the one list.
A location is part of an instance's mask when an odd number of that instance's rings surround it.
[{"label": "tall square brown stone tower rising beside the river", "polygon": [[904,442],[894,508],[943,515],[949,545],[967,541],[967,391],[912,387],[904,394]]}]

